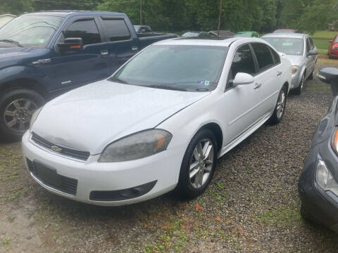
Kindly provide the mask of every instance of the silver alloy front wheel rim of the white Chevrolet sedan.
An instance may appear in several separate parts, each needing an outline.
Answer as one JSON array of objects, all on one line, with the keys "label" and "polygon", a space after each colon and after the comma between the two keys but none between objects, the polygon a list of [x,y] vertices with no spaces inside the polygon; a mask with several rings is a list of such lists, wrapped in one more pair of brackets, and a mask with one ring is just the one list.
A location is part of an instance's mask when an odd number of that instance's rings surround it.
[{"label": "silver alloy front wheel rim of the white Chevrolet sedan", "polygon": [[193,188],[201,188],[211,176],[213,168],[213,142],[204,138],[194,148],[189,163],[189,179]]}]

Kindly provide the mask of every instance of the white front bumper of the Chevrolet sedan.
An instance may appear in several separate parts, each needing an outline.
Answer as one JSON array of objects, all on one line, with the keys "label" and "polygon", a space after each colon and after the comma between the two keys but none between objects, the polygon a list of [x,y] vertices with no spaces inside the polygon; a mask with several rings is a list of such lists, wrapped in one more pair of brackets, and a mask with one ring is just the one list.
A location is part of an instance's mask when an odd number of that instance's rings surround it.
[{"label": "white front bumper of the Chevrolet sedan", "polygon": [[[104,163],[98,162],[100,155],[90,155],[86,162],[80,162],[40,148],[30,141],[29,132],[23,136],[22,149],[25,165],[32,178],[46,190],[72,200],[103,206],[129,205],[149,200],[173,190],[178,181],[184,155],[184,150],[176,148],[135,161]],[[40,180],[29,166],[32,162],[43,164],[65,179],[77,181],[75,193],[70,194]],[[135,189],[141,189],[142,193],[144,187],[146,187],[144,195],[132,195]],[[121,200],[121,195],[118,193],[123,192],[127,193],[124,195],[129,194],[130,197]],[[100,200],[93,200],[95,195],[93,193],[96,193],[96,195],[97,193],[104,193],[106,196],[111,193],[112,197],[108,201],[102,201],[104,198],[101,195]]]}]

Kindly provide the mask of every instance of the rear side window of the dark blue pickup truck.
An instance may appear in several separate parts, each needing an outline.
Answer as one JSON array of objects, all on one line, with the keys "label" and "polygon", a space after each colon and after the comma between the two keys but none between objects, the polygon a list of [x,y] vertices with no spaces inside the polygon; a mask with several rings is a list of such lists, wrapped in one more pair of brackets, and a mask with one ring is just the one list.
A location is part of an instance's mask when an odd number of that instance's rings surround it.
[{"label": "rear side window of the dark blue pickup truck", "polygon": [[106,28],[109,41],[122,41],[131,38],[128,27],[123,19],[104,19],[104,27]]}]

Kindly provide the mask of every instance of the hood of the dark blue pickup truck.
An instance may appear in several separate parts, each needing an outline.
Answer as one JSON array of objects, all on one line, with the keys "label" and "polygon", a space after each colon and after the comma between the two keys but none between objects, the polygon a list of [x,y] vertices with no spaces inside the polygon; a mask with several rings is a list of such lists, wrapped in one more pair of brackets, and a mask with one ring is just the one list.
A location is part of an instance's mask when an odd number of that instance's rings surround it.
[{"label": "hood of the dark blue pickup truck", "polygon": [[0,47],[0,70],[13,65],[32,65],[48,53],[48,48]]}]

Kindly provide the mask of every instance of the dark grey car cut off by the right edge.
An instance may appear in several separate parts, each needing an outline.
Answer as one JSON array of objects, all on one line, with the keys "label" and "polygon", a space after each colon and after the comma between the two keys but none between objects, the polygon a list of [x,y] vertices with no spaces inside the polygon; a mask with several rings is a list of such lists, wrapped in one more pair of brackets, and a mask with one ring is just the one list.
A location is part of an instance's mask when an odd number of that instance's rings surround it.
[{"label": "dark grey car cut off by the right edge", "polygon": [[304,219],[338,232],[338,69],[327,67],[318,77],[331,85],[334,99],[312,139],[299,178]]}]

